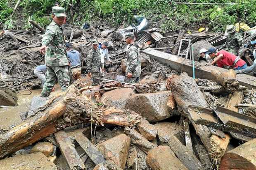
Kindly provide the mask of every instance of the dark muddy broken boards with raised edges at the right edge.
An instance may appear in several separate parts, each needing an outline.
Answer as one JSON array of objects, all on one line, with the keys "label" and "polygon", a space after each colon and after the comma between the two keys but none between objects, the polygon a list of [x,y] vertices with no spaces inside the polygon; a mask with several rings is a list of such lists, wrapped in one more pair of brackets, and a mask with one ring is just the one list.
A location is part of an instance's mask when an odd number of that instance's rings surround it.
[{"label": "dark muddy broken boards with raised edges at the right edge", "polygon": [[[202,124],[224,132],[235,132],[253,138],[256,137],[256,120],[252,117],[232,112],[231,110],[220,107],[218,107],[217,111],[215,111],[216,114],[219,115],[219,118],[216,116],[213,110],[203,107],[190,107],[188,109],[188,112],[190,113],[190,117],[196,124]],[[230,113],[231,115],[229,115],[228,113]],[[221,121],[223,119],[224,122],[222,122],[224,124],[218,122],[218,119],[220,119]],[[253,122],[247,122],[247,120],[250,119]]]}]

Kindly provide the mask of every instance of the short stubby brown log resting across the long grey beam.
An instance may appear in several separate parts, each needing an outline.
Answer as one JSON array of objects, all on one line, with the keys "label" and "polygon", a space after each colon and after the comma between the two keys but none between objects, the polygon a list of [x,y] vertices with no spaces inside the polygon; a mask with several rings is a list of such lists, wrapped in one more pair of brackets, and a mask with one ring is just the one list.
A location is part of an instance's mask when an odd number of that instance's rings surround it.
[{"label": "short stubby brown log resting across the long grey beam", "polygon": [[233,69],[229,69],[228,72],[220,72],[213,70],[211,74],[215,77],[215,80],[222,85],[227,92],[234,92],[239,89],[239,82],[236,79],[236,73]]}]

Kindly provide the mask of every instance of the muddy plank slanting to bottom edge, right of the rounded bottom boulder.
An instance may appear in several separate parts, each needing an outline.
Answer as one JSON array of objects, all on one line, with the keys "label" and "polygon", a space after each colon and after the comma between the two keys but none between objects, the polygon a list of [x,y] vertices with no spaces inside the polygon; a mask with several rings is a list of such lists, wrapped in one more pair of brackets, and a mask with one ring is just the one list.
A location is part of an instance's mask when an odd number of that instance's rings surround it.
[{"label": "muddy plank slanting to bottom edge, right of the rounded bottom boulder", "polygon": [[204,170],[203,165],[197,159],[197,157],[184,146],[178,138],[171,136],[171,139],[168,141],[168,146],[178,157],[178,159],[187,167],[189,170]]}]

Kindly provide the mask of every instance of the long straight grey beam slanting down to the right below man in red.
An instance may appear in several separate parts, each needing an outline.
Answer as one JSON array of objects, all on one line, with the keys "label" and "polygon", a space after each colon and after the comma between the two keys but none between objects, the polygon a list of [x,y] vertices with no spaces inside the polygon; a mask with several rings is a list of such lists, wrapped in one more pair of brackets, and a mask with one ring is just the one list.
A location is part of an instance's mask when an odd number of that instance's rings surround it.
[{"label": "long straight grey beam slanting down to the right below man in red", "polygon": [[[151,58],[162,64],[168,64],[171,69],[175,69],[177,71],[185,71],[189,76],[193,76],[192,71],[192,62],[189,59],[184,59],[182,57],[178,57],[177,55],[171,55],[168,53],[164,53],[161,51],[153,50],[151,48],[147,48],[142,51],[143,53],[149,55]],[[215,81],[215,77],[211,74],[212,70],[218,70],[221,72],[227,72],[227,69],[223,69],[216,66],[201,66],[200,62],[195,61],[195,77],[201,79],[208,79]],[[249,76],[247,74],[237,74],[237,81],[240,85],[248,87],[248,89],[256,88],[256,77]]]}]

